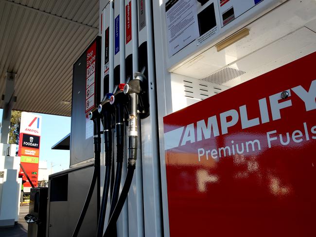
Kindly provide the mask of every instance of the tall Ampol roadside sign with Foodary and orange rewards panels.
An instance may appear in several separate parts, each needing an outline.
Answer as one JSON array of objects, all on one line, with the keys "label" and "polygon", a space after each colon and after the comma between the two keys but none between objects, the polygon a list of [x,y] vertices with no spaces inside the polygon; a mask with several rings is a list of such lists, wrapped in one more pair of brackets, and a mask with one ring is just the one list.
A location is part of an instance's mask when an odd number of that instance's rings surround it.
[{"label": "tall Ampol roadside sign with Foodary and orange rewards panels", "polygon": [[[27,172],[35,187],[37,186],[38,181],[39,142],[41,134],[41,124],[41,116],[27,112],[22,112],[18,156],[21,157],[21,164],[23,165],[25,172]],[[24,187],[31,187],[31,184],[27,180],[26,175],[24,175],[22,169],[20,169],[20,173],[23,174],[23,180],[26,181]]]}]

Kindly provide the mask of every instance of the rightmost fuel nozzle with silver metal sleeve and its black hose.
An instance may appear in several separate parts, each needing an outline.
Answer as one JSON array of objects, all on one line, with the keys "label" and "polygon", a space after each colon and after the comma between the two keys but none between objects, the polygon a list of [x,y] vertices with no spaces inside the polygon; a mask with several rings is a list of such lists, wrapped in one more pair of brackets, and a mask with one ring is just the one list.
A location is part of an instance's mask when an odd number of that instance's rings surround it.
[{"label": "rightmost fuel nozzle with silver metal sleeve and its black hose", "polygon": [[[125,182],[122,188],[122,192],[120,198],[117,203],[112,202],[112,205],[115,205],[112,214],[110,215],[110,219],[105,230],[105,237],[109,237],[111,235],[112,228],[115,226],[116,221],[118,220],[121,210],[123,208],[124,202],[126,200],[128,190],[131,186],[134,170],[136,168],[136,160],[137,160],[137,148],[138,148],[138,119],[140,112],[142,114],[147,113],[144,101],[148,101],[147,93],[144,93],[147,90],[146,86],[146,78],[143,75],[145,68],[141,70],[141,72],[137,72],[134,74],[134,80],[129,81],[123,87],[122,91],[112,96],[114,100],[116,98],[120,98],[124,95],[128,95],[129,99],[129,113],[128,113],[128,159],[127,159],[127,174],[125,178]],[[126,98],[126,97],[125,97]]]}]

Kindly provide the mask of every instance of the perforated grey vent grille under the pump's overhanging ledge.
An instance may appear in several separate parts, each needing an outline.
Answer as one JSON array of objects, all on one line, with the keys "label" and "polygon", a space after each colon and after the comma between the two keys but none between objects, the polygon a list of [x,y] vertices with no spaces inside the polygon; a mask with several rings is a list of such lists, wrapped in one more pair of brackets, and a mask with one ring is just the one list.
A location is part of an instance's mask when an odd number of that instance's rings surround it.
[{"label": "perforated grey vent grille under the pump's overhanging ledge", "polygon": [[222,84],[224,84],[224,83],[226,83],[226,82],[228,82],[236,77],[239,77],[245,73],[246,73],[246,71],[238,70],[235,68],[223,68],[222,70],[217,71],[217,72],[215,72],[215,73],[213,73],[205,78],[202,78],[200,80],[222,85]]}]

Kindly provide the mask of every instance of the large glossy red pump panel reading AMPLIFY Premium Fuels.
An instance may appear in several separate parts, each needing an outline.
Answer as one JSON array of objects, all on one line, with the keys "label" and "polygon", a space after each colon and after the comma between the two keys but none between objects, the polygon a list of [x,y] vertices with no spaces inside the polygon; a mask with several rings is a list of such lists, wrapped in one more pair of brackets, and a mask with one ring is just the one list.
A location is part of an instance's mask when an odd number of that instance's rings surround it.
[{"label": "large glossy red pump panel reading AMPLIFY Premium Fuels", "polygon": [[171,237],[316,236],[315,62],[164,117]]}]

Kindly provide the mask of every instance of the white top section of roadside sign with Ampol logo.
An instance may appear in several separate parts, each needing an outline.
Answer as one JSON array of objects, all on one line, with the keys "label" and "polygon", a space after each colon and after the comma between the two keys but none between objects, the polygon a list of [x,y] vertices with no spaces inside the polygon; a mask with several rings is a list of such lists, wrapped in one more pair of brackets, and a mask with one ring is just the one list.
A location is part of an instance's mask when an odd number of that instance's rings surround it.
[{"label": "white top section of roadside sign with Ampol logo", "polygon": [[30,135],[40,135],[41,122],[42,122],[41,116],[27,113],[27,112],[22,112],[20,133],[27,133]]}]

